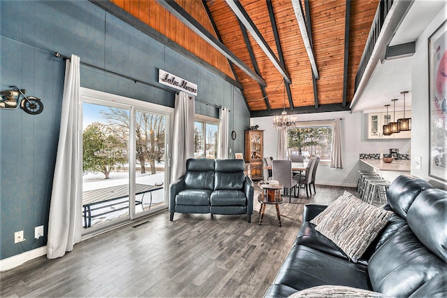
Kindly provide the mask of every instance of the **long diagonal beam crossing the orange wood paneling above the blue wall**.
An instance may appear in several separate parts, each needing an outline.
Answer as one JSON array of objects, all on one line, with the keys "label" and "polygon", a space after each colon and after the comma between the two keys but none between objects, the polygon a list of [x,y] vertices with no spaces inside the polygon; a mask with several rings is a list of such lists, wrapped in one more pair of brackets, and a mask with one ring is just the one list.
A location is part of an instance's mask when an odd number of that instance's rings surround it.
[{"label": "long diagonal beam crossing the orange wood paneling above the blue wall", "polygon": [[207,31],[207,29],[205,29],[202,24],[197,22],[191,15],[189,15],[189,13],[187,13],[186,10],[182,8],[182,6],[179,6],[177,2],[175,2],[174,0],[157,0],[157,2],[160,3],[161,6],[166,8],[170,13],[175,15],[175,17],[182,21],[187,27],[189,27],[189,29],[193,30],[194,32],[196,32],[196,34],[198,34],[198,36],[207,41],[207,43],[210,43],[213,48],[230,59],[231,62],[238,66],[242,71],[247,73],[247,75],[256,80],[256,82],[263,85],[264,87],[267,86],[265,80],[261,78],[261,76],[252,71],[249,66],[242,62],[241,59],[237,58],[236,55],[233,54],[233,52],[228,50],[228,48],[223,45],[223,43],[221,43],[219,39],[210,34],[210,32]]}]

